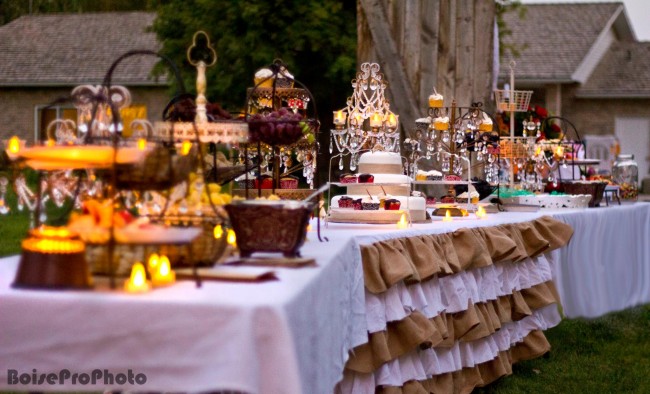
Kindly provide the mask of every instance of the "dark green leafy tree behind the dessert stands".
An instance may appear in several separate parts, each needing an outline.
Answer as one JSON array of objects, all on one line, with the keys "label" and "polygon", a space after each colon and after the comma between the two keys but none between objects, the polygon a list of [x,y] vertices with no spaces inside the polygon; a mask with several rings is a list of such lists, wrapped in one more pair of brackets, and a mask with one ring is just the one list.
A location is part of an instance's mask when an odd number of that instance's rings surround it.
[{"label": "dark green leafy tree behind the dessert stands", "polygon": [[[210,36],[217,64],[208,68],[207,97],[243,108],[247,87],[261,67],[280,58],[315,96],[320,117],[342,107],[356,69],[356,2],[338,0],[169,0],[158,9],[154,31],[162,53],[181,65],[195,91],[196,70],[186,51],[198,30]],[[159,65],[158,72],[164,66]],[[329,112],[331,114],[331,112]]]}]

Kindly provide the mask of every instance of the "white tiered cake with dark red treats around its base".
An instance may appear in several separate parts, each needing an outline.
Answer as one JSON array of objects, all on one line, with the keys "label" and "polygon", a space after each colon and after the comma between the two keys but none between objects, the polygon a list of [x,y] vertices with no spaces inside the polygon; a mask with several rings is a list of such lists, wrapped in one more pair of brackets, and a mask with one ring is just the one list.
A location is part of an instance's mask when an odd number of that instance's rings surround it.
[{"label": "white tiered cake with dark red treats around its base", "polygon": [[[403,173],[402,157],[398,153],[366,152],[359,157],[358,168],[358,174],[369,174],[374,179],[368,183],[346,184],[347,194],[332,198],[330,221],[395,223],[404,212],[410,215],[411,221],[426,220],[426,201],[423,197],[410,196],[411,180]],[[395,200],[399,201],[398,209],[394,209]],[[386,209],[387,202],[393,209]]]}]

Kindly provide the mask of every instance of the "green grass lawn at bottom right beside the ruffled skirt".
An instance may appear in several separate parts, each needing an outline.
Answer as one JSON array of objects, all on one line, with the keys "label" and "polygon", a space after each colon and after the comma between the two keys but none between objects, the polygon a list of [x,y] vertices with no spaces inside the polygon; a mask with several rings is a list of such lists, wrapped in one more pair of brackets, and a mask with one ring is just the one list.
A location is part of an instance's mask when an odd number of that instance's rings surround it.
[{"label": "green grass lawn at bottom right beside the ruffled skirt", "polygon": [[650,393],[650,305],[546,331],[551,352],[476,393]]}]

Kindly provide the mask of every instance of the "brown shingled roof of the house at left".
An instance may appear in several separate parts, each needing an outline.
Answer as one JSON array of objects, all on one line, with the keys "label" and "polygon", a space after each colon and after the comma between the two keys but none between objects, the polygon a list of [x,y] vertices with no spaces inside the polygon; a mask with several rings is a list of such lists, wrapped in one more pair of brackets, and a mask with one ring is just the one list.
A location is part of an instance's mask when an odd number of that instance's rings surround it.
[{"label": "brown shingled roof of the house at left", "polygon": [[[68,86],[101,83],[109,67],[130,50],[157,51],[148,31],[155,13],[39,14],[0,26],[0,86]],[[112,83],[161,85],[150,73],[158,59],[134,56],[115,70]]]}]

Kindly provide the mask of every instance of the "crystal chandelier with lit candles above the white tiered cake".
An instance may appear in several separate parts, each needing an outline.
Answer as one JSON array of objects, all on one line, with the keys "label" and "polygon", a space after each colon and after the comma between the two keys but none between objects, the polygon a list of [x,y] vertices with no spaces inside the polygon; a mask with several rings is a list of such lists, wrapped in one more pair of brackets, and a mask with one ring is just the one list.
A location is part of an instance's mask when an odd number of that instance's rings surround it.
[{"label": "crystal chandelier with lit candles above the white tiered cake", "polygon": [[343,155],[351,155],[350,170],[354,171],[363,151],[400,151],[399,115],[390,110],[385,96],[387,83],[379,69],[377,63],[363,63],[352,80],[354,92],[347,106],[334,111],[329,151],[334,153],[336,147],[341,170]]}]

